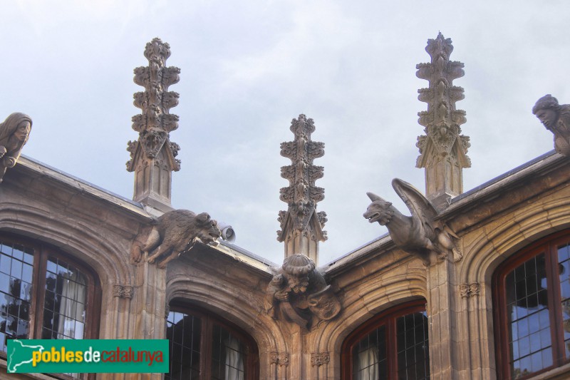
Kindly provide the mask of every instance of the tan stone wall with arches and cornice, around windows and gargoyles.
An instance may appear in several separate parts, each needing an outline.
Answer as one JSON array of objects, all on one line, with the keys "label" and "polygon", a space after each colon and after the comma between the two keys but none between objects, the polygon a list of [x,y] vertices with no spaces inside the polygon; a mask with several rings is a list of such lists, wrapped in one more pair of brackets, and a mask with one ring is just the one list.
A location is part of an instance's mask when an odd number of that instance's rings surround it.
[{"label": "tan stone wall with arches and cornice, around windows and gargoyles", "polygon": [[[259,379],[343,379],[346,338],[378,314],[415,301],[425,304],[429,319],[432,379],[496,379],[500,332],[494,274],[525,247],[564,235],[570,227],[569,179],[568,159],[551,152],[456,197],[440,218],[460,237],[459,262],[426,267],[389,236],[333,262],[325,275],[341,300],[341,313],[309,330],[269,317],[270,263],[238,247],[199,245],[166,269],[144,261],[133,265],[131,246],[152,218],[142,205],[30,158],[20,158],[0,186],[0,232],[57,247],[93,269],[100,307],[91,312],[97,314],[95,337],[101,339],[165,338],[168,305],[188,304],[252,337]],[[0,376],[7,376],[6,361],[0,365]],[[567,376],[570,365],[562,363],[536,378]]]}]

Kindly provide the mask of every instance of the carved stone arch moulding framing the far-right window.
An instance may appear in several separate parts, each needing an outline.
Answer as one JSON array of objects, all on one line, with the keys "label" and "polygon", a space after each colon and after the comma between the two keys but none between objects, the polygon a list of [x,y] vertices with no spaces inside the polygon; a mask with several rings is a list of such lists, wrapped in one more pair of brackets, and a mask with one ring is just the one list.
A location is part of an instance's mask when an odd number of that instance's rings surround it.
[{"label": "carved stone arch moulding framing the far-right window", "polygon": [[457,269],[457,286],[475,283],[479,289],[477,297],[461,298],[457,314],[460,334],[470,342],[460,347],[466,364],[463,370],[475,370],[474,376],[482,377],[495,373],[492,276],[501,262],[514,253],[541,237],[570,227],[569,205],[569,197],[536,202],[475,232],[478,235],[465,250]]}]

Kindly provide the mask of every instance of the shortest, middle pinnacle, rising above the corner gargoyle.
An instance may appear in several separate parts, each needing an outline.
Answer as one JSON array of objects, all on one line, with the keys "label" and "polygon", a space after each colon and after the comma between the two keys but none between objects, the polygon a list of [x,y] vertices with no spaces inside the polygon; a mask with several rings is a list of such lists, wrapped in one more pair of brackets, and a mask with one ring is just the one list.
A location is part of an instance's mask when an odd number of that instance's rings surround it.
[{"label": "shortest, middle pinnacle, rising above the corner gargoyle", "polygon": [[280,199],[289,208],[279,212],[277,240],[285,242],[285,257],[303,253],[317,262],[318,242],[326,240],[326,213],[316,212],[317,202],[324,199],[324,189],[315,186],[323,177],[323,167],[313,165],[313,160],[325,154],[325,144],[311,141],[314,130],[313,119],[299,115],[291,121],[295,140],[281,143],[281,155],[290,158],[291,165],[281,168],[281,177],[289,180],[289,186],[281,188]]}]

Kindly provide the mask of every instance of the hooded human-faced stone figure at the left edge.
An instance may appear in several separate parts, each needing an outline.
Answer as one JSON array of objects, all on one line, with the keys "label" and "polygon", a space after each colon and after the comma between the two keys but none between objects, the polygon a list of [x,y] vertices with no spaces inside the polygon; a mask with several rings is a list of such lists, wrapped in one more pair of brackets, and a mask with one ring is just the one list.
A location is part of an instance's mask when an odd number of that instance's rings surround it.
[{"label": "hooded human-faced stone figure at the left edge", "polygon": [[28,141],[31,131],[31,118],[15,112],[0,123],[0,183],[6,169],[14,168],[20,158],[22,147]]}]

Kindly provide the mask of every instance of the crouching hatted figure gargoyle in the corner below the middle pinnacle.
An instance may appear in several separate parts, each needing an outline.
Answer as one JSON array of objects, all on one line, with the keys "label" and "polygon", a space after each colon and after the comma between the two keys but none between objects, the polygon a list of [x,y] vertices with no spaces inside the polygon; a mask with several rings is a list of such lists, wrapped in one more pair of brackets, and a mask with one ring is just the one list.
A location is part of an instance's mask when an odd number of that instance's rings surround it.
[{"label": "crouching hatted figure gargoyle in the corner below the middle pinnacle", "polygon": [[267,286],[267,312],[306,329],[314,322],[333,319],[341,303],[327,285],[315,262],[297,253],[286,257]]}]

